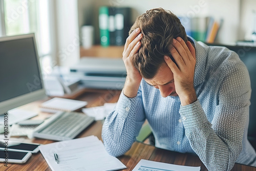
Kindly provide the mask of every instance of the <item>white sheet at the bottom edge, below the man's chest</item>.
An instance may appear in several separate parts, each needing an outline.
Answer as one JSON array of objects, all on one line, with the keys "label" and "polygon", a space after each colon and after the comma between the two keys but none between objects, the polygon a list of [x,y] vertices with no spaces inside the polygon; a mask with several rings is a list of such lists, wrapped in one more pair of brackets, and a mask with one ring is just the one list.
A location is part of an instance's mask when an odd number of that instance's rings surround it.
[{"label": "white sheet at the bottom edge, below the man's chest", "polygon": [[182,166],[141,159],[132,171],[200,171],[200,169],[200,166]]}]

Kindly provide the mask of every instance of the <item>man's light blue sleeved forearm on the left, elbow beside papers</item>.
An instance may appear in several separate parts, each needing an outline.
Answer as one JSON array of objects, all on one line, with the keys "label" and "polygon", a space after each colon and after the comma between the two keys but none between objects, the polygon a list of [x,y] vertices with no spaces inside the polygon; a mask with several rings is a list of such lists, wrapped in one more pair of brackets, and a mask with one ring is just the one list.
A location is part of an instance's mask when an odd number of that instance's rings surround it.
[{"label": "man's light blue sleeved forearm on the left, elbow beside papers", "polygon": [[106,117],[102,126],[106,151],[113,156],[124,154],[133,144],[144,121],[141,94],[127,98],[122,92],[115,110]]}]

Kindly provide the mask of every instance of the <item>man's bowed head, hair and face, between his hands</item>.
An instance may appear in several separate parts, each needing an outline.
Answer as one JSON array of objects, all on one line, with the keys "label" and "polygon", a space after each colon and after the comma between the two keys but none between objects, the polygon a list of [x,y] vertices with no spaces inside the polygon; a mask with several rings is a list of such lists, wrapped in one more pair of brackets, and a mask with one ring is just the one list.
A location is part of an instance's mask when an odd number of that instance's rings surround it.
[{"label": "man's bowed head, hair and face, between his hands", "polygon": [[179,18],[162,8],[152,9],[136,19],[129,34],[136,28],[140,28],[143,38],[139,52],[133,58],[135,68],[147,83],[160,90],[163,97],[176,96],[173,73],[166,65],[164,55],[175,62],[169,52],[173,38],[181,37],[187,41]]}]

